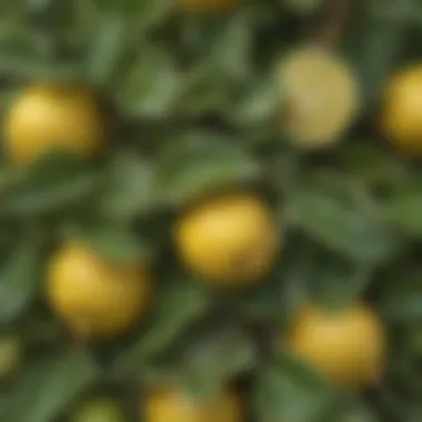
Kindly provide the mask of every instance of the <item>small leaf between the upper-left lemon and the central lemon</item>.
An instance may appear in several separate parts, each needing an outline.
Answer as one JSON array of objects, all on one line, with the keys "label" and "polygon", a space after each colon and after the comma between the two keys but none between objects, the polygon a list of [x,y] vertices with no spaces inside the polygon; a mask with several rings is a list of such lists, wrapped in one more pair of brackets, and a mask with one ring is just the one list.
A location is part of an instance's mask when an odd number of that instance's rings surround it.
[{"label": "small leaf between the upper-left lemon and the central lemon", "polygon": [[131,220],[145,214],[155,202],[154,168],[133,151],[120,151],[109,163],[100,212],[113,220]]}]

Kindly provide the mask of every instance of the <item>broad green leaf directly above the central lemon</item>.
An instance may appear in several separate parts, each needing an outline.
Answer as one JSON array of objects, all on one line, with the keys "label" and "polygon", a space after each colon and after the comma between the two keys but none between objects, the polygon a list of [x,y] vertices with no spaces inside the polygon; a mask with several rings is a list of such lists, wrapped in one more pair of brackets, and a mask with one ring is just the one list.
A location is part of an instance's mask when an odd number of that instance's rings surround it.
[{"label": "broad green leaf directly above the central lemon", "polygon": [[193,132],[159,160],[155,191],[163,203],[179,205],[217,189],[251,181],[259,172],[253,157],[231,140]]}]

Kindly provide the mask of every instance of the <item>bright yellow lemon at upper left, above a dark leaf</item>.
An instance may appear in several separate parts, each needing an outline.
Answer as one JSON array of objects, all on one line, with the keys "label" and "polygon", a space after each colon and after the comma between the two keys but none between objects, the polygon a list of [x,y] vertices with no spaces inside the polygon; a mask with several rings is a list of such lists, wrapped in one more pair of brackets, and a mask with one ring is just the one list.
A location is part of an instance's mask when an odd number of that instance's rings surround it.
[{"label": "bright yellow lemon at upper left, above a dark leaf", "polygon": [[16,163],[52,149],[91,155],[103,142],[104,121],[90,92],[39,84],[24,89],[4,119],[4,152]]}]

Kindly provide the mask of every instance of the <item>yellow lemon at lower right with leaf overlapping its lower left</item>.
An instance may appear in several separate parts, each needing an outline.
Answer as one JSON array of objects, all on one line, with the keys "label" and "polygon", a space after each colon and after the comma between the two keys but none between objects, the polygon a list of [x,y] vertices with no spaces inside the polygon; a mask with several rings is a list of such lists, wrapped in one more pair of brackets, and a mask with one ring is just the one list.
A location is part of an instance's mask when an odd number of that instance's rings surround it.
[{"label": "yellow lemon at lower right with leaf overlapping its lower left", "polygon": [[288,333],[287,344],[328,379],[344,386],[378,381],[386,349],[381,321],[361,303],[336,313],[303,309]]}]

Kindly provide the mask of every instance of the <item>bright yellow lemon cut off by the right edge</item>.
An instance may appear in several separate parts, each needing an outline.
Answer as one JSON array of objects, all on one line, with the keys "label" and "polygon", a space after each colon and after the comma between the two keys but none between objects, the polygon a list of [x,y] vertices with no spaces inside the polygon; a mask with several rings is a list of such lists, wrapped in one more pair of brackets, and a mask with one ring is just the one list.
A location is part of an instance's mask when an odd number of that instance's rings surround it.
[{"label": "bright yellow lemon cut off by the right edge", "polygon": [[422,155],[422,63],[389,81],[381,108],[381,129],[388,140],[405,153]]}]

